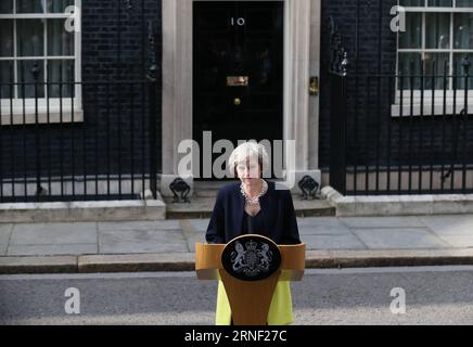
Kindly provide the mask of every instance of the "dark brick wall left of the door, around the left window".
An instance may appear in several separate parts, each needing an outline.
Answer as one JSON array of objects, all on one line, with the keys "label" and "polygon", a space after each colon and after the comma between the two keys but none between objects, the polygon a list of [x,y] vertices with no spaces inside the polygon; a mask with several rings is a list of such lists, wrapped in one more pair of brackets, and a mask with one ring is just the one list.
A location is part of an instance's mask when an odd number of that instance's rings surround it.
[{"label": "dark brick wall left of the door, around the left window", "polygon": [[150,21],[157,34],[157,107],[154,116],[161,169],[161,1],[130,2],[131,9],[127,9],[123,0],[81,1],[85,120],[1,127],[0,171],[3,178],[35,177],[38,155],[39,171],[43,177],[149,172],[149,92],[142,81],[149,66]]}]

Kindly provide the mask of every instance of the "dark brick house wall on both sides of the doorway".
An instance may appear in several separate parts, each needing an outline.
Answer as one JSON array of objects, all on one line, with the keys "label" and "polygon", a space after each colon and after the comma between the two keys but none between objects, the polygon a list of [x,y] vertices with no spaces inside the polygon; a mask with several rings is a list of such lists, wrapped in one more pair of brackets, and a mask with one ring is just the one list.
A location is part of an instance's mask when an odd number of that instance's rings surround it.
[{"label": "dark brick house wall on both sides of the doorway", "polygon": [[[155,116],[156,153],[158,171],[161,170],[162,4],[159,0],[130,2],[132,8],[126,9],[126,1],[82,0],[85,121],[74,125],[0,127],[0,174],[3,177],[23,177],[25,172],[26,176],[34,177],[37,154],[40,157],[41,176],[57,176],[61,171],[66,176],[73,171],[75,175],[149,171],[149,94],[141,85],[127,82],[144,79],[149,57],[149,21],[157,33],[158,87]],[[452,140],[463,137],[468,140],[466,157],[473,159],[473,137],[469,136],[473,129],[470,120],[465,123],[466,131],[460,127],[458,132],[458,121],[449,120],[448,116],[431,117],[424,121],[409,117],[392,118],[389,105],[393,95],[388,93],[386,80],[378,86],[376,79],[368,81],[366,77],[355,78],[357,75],[395,74],[396,34],[389,29],[389,10],[396,3],[396,0],[322,0],[318,137],[320,166],[323,169],[329,167],[330,158],[330,16],[338,24],[350,61],[348,164],[449,163],[455,156]],[[122,5],[120,15],[118,4]],[[118,24],[122,28],[119,33]],[[108,81],[118,82],[108,89],[105,85],[100,85]],[[317,133],[314,136],[317,137]],[[36,145],[37,138],[39,146]]]}]

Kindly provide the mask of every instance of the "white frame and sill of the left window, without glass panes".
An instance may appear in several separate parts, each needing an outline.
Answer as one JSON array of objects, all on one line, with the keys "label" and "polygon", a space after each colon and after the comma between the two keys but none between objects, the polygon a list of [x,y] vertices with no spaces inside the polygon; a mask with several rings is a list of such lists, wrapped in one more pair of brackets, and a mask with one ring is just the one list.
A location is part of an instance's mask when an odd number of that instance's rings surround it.
[{"label": "white frame and sill of the left window, without glass panes", "polygon": [[[16,1],[13,1],[13,13],[0,14],[0,20],[67,20],[71,15],[67,13],[47,13],[47,8],[42,13],[14,13]],[[75,21],[81,22],[81,0],[75,0],[74,5],[80,10]],[[77,14],[76,14],[77,15]],[[80,23],[81,25],[81,23]],[[44,88],[44,97],[38,98],[18,98],[18,72],[14,64],[13,76],[16,83],[14,94],[10,98],[0,99],[1,119],[0,125],[12,124],[35,124],[36,114],[38,113],[38,123],[74,123],[84,121],[82,112],[82,89],[81,89],[81,30],[74,31],[74,55],[48,55],[48,36],[47,24],[44,24],[44,47],[41,56],[18,56],[17,55],[17,33],[16,25],[13,25],[13,56],[0,56],[0,61],[18,62],[18,61],[44,61],[41,69],[47,81],[47,63],[49,60],[69,60],[74,61],[74,97],[49,98],[48,88]],[[36,105],[36,102],[38,105]],[[73,116],[74,110],[74,116]],[[13,111],[13,112],[12,112]],[[48,121],[49,120],[49,121]]]}]

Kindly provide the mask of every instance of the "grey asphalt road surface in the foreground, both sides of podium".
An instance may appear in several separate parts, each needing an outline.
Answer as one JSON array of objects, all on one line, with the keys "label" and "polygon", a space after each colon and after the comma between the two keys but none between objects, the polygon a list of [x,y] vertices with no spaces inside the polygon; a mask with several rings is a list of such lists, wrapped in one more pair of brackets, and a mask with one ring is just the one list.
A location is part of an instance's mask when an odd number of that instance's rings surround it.
[{"label": "grey asphalt road surface in the foreground, both sides of podium", "polygon": [[[472,324],[472,288],[473,267],[308,270],[295,324]],[[189,272],[0,275],[0,324],[213,324],[216,290]]]}]

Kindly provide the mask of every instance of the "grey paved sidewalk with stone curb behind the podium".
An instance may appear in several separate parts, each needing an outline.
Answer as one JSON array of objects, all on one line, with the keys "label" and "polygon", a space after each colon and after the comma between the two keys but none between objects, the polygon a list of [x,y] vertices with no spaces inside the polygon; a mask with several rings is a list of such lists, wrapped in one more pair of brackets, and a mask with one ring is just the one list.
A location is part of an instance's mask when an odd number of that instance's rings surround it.
[{"label": "grey paved sidewalk with stone curb behind the podium", "polygon": [[[3,223],[0,273],[192,270],[208,219]],[[298,218],[307,267],[473,264],[473,215]]]}]

